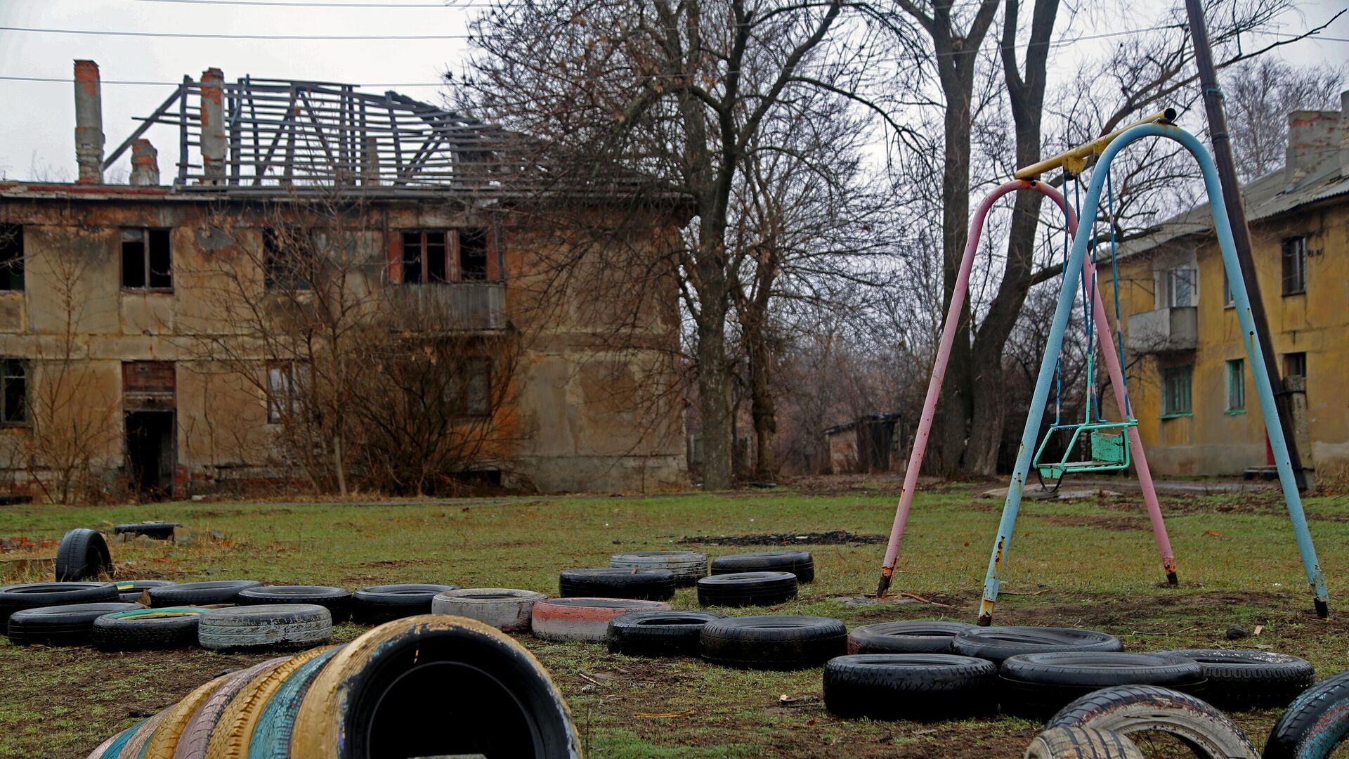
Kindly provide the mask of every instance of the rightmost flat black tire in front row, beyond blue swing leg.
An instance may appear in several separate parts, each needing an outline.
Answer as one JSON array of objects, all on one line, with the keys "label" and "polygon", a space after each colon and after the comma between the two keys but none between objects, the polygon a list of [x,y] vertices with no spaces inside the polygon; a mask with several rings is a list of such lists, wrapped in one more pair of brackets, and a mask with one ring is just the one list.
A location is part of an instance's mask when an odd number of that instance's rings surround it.
[{"label": "rightmost flat black tire in front row, beyond blue swing leg", "polygon": [[1203,700],[1225,710],[1287,706],[1317,679],[1311,662],[1287,654],[1221,648],[1182,648],[1161,654],[1199,662],[1209,681]]}]

